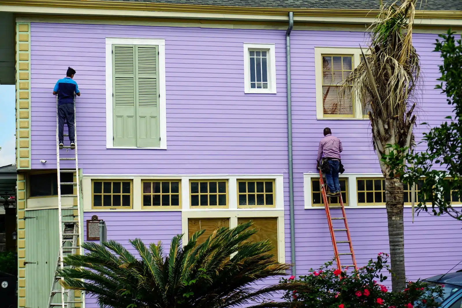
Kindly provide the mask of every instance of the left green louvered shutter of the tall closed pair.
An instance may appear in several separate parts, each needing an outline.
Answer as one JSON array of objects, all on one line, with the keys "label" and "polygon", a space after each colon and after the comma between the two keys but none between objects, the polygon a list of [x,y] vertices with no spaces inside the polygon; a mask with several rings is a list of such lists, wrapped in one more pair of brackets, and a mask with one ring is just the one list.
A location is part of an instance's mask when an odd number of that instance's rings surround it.
[{"label": "left green louvered shutter of the tall closed pair", "polygon": [[112,45],[114,146],[136,146],[135,47]]}]

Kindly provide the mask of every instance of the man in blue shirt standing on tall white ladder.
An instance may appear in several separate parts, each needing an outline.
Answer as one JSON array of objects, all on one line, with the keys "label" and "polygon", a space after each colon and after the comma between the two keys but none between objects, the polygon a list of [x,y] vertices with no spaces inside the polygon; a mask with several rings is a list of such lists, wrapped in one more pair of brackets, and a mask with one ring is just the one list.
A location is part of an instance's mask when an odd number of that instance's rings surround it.
[{"label": "man in blue shirt standing on tall white ladder", "polygon": [[64,120],[67,121],[71,148],[75,148],[74,92],[77,96],[80,96],[80,91],[77,83],[73,80],[74,74],[74,69],[69,67],[66,77],[59,79],[53,89],[53,95],[58,94],[58,139],[60,149],[64,146]]}]

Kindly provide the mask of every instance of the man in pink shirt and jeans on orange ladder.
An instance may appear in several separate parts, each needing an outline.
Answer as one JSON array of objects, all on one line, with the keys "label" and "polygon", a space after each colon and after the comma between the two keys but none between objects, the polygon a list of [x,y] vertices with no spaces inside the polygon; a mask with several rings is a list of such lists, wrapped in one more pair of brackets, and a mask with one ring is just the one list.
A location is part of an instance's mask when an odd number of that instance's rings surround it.
[{"label": "man in pink shirt and jeans on orange ladder", "polygon": [[326,172],[326,182],[329,187],[329,196],[340,194],[339,169],[340,169],[340,152],[343,151],[342,142],[335,136],[329,127],[324,128],[324,138],[319,142],[317,162],[321,165],[321,159],[324,157],[329,164],[330,172]]}]

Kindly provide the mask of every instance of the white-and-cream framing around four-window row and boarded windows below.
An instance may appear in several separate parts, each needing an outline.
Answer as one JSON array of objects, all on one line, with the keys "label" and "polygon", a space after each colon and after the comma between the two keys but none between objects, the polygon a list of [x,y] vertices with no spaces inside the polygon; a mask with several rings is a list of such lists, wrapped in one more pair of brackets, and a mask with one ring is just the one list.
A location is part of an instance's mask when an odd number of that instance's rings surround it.
[{"label": "white-and-cream framing around four-window row and boarded windows below", "polygon": [[[132,209],[92,209],[91,180],[132,180]],[[181,209],[143,209],[141,205],[141,180],[169,179],[181,181]],[[191,209],[189,205],[189,180],[227,180],[228,205],[226,209]],[[276,206],[273,208],[238,208],[237,180],[274,180]],[[182,212],[183,245],[188,242],[188,218],[230,218],[230,228],[237,226],[237,218],[276,217],[278,218],[278,260],[286,262],[285,222],[284,222],[284,175],[84,175],[82,178],[82,195],[85,212],[128,212],[128,211],[180,211]]]}]

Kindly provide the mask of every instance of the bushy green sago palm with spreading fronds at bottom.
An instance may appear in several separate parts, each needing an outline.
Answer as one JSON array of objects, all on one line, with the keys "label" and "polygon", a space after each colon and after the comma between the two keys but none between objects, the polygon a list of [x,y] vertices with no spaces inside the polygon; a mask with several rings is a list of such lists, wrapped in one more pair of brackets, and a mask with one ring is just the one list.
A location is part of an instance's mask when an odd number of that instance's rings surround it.
[{"label": "bushy green sago palm with spreading fronds at bottom", "polygon": [[[261,302],[292,284],[255,288],[264,278],[285,275],[289,265],[267,254],[269,241],[250,242],[251,223],[221,228],[197,245],[205,230],[196,232],[182,247],[181,235],[173,237],[169,254],[159,242],[147,248],[140,239],[130,241],[139,259],[120,243],[109,241],[82,245],[86,255],[64,259],[75,269],[60,271],[67,289],[82,290],[114,308],[225,308]],[[230,257],[231,256],[231,257]],[[85,279],[85,281],[78,280]],[[255,304],[258,307],[290,307],[289,303]]]}]

